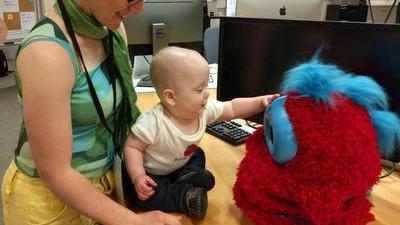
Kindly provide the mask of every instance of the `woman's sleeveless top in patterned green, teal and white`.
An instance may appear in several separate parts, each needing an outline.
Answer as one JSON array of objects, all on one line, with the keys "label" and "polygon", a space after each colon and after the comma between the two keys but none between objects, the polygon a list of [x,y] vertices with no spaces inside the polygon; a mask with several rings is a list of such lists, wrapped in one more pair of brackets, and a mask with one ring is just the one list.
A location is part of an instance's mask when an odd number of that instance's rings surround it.
[{"label": "woman's sleeveless top in patterned green, teal and white", "polygon": [[[69,45],[61,29],[49,18],[42,18],[22,41],[17,55],[32,42],[51,41],[61,45],[69,54],[75,71],[75,84],[71,93],[72,116],[72,162],[71,166],[87,178],[102,176],[112,166],[114,145],[110,134],[101,123],[93,104],[84,70],[80,69],[78,57]],[[113,90],[106,67],[106,59],[92,70],[89,76],[96,89],[97,96],[104,111],[104,116],[111,129],[113,121]],[[73,75],[73,74],[71,74]],[[31,74],[34,76],[34,74]],[[22,85],[16,71],[18,98],[22,106]],[[121,101],[121,86],[117,82],[117,107]],[[63,119],[63,118],[60,118]],[[43,133],[46,135],[46,133]],[[57,151],[57,149],[54,149]],[[35,163],[32,160],[29,140],[25,125],[22,122],[18,146],[15,151],[17,167],[30,177],[38,177]]]}]

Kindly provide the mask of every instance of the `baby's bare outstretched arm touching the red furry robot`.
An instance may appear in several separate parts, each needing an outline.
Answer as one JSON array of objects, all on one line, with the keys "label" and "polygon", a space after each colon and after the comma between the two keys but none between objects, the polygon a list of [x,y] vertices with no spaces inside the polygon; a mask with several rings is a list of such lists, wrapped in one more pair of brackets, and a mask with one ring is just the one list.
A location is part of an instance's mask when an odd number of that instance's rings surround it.
[{"label": "baby's bare outstretched arm touching the red furry robot", "polygon": [[224,111],[218,118],[220,121],[246,118],[265,110],[271,102],[278,98],[279,94],[262,95],[251,98],[235,98],[224,102]]}]

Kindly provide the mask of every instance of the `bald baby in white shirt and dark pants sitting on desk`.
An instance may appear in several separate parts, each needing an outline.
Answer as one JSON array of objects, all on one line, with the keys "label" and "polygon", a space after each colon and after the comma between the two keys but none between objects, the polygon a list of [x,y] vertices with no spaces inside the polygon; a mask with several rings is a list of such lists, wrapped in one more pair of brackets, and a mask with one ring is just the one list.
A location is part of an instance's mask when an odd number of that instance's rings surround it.
[{"label": "bald baby in white shirt and dark pants sitting on desk", "polygon": [[126,141],[125,195],[144,210],[203,219],[215,184],[198,146],[206,125],[259,113],[279,95],[209,100],[207,61],[178,47],[154,56],[150,76],[160,103],[140,115]]}]

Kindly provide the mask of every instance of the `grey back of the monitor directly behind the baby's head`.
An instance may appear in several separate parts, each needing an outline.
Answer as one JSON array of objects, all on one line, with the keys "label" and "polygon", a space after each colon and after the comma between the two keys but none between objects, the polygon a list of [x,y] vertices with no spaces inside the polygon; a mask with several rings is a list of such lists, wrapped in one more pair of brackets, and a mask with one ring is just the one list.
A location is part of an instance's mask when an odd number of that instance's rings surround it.
[{"label": "grey back of the monitor directly behind the baby's head", "polygon": [[151,55],[154,46],[180,45],[197,50],[203,40],[203,1],[149,0],[143,12],[129,16],[124,25],[134,55]]}]

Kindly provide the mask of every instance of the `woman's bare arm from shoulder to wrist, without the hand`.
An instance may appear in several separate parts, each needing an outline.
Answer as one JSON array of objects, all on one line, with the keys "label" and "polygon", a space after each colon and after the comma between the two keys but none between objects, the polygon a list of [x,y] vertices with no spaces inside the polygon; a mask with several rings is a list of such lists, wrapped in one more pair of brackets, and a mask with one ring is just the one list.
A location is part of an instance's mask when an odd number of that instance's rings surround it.
[{"label": "woman's bare arm from shoulder to wrist, without the hand", "polygon": [[71,167],[75,75],[66,51],[52,42],[32,43],[19,55],[17,69],[32,157],[41,179],[66,204],[102,224],[133,224],[136,214]]}]

